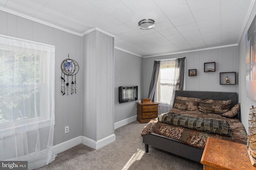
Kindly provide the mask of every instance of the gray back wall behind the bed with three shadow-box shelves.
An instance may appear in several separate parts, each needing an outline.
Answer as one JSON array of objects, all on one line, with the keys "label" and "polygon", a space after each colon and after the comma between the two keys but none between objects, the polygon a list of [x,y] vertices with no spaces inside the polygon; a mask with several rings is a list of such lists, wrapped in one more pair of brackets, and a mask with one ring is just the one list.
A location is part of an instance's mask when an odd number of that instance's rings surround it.
[{"label": "gray back wall behind the bed with three shadow-box shelves", "polygon": [[[144,58],[144,98],[148,97],[154,60],[180,57],[186,57],[184,90],[238,92],[238,46],[232,46]],[[215,72],[204,72],[204,63],[208,62],[216,62]],[[189,69],[197,69],[197,76],[188,76]],[[220,72],[236,72],[236,84],[220,85]]]}]

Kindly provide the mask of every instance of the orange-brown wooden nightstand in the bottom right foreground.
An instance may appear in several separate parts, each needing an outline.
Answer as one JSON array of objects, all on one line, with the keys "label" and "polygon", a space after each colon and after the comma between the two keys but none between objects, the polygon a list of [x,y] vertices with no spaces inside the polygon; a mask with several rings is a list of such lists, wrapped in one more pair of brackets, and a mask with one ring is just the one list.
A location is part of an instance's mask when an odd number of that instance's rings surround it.
[{"label": "orange-brown wooden nightstand in the bottom right foreground", "polygon": [[246,145],[212,137],[207,139],[201,164],[204,170],[256,170]]}]

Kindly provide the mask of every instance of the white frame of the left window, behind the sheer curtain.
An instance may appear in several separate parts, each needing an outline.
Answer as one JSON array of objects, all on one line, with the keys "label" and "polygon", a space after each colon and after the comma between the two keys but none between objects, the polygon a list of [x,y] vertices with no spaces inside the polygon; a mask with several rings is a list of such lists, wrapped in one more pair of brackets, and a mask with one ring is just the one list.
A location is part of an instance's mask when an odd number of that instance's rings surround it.
[{"label": "white frame of the left window, behind the sheer curtain", "polygon": [[[38,50],[36,49],[29,49],[28,47],[18,47],[18,46],[10,46],[10,45],[5,45],[3,43],[0,43],[0,49],[4,49],[4,50],[10,50],[10,51],[18,51],[18,52],[23,52],[23,53],[34,53],[37,55],[40,55],[40,82],[39,84],[13,84],[14,86],[33,86],[33,87],[38,87],[40,88],[40,117],[33,117],[33,118],[28,118],[28,119],[21,119],[21,120],[15,120],[15,121],[9,121],[9,122],[5,122],[5,123],[0,123],[0,136],[4,135],[4,136],[8,136],[11,135],[13,132],[13,128],[16,128],[15,131],[24,131],[24,127],[25,129],[30,128],[30,130],[32,129],[36,129],[39,127],[47,127],[49,126],[49,123],[51,121],[51,114],[54,114],[54,105],[55,105],[55,95],[53,96],[53,104],[50,104],[51,106],[48,106],[49,104],[46,103],[47,100],[49,100],[51,98],[51,96],[49,94],[47,94],[46,90],[47,87],[50,87],[51,83],[47,83],[48,78],[46,77],[48,75],[48,73],[46,73],[47,71],[47,64],[50,62],[53,62],[53,66],[55,63],[55,46],[53,45],[47,45],[47,44],[43,44],[43,43],[38,43],[38,42],[34,42],[34,41],[29,41],[29,40],[25,40],[25,39],[19,39],[19,38],[15,38],[15,37],[9,37],[6,35],[1,35],[0,38],[3,37],[7,37],[10,39],[14,39],[14,41],[25,41],[28,43],[33,43],[36,45],[41,45],[44,48],[42,50]],[[53,49],[52,49],[53,48]],[[48,51],[49,50],[49,51]],[[48,54],[49,53],[49,54]],[[51,53],[51,54],[50,54]],[[54,55],[53,59],[50,59],[50,57],[48,57],[47,55]],[[53,61],[52,61],[53,60]],[[53,71],[55,71],[54,68],[52,68]],[[54,75],[54,74],[53,74]],[[54,78],[53,78],[54,80]],[[5,86],[6,84],[0,84],[1,86]],[[53,87],[55,88],[55,83],[53,82]],[[34,94],[36,95],[36,94]],[[52,106],[53,105],[53,106]],[[46,107],[53,107],[52,111],[46,111],[47,108]],[[54,118],[55,121],[55,118]],[[38,124],[38,126],[35,126],[35,123]],[[55,124],[55,123],[54,123]],[[4,134],[1,134],[2,131],[4,130]]]}]

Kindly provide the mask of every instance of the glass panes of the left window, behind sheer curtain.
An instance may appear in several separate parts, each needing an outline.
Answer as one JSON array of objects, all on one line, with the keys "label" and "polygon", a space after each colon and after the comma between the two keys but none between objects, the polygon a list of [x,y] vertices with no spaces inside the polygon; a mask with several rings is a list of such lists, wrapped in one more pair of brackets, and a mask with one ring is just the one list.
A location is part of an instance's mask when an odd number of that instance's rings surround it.
[{"label": "glass panes of the left window, behind sheer curtain", "polygon": [[40,117],[40,54],[0,49],[0,124]]}]

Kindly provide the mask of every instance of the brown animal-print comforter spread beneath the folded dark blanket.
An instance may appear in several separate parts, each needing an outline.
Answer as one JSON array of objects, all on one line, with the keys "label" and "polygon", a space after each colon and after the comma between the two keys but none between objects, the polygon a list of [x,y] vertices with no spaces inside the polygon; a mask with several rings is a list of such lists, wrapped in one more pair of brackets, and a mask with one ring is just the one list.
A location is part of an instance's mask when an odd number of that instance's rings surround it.
[{"label": "brown animal-print comforter spread beneath the folded dark blanket", "polygon": [[187,115],[191,117],[206,118],[206,119],[220,119],[227,121],[232,129],[232,137],[227,137],[215,133],[207,133],[202,131],[197,131],[194,129],[188,129],[185,127],[180,127],[176,125],[170,125],[167,123],[162,123],[158,121],[158,118],[152,119],[143,129],[141,135],[146,135],[149,133],[157,133],[165,137],[175,139],[196,147],[199,149],[204,149],[206,140],[208,137],[214,137],[218,139],[223,139],[226,141],[232,141],[236,143],[241,143],[246,145],[247,133],[244,125],[237,118],[226,118],[221,115],[214,113],[204,113],[200,111],[188,111],[178,108],[172,108],[169,112],[178,113],[180,115]]}]

